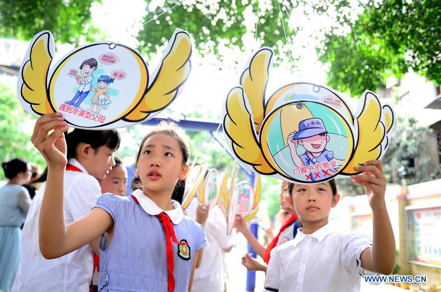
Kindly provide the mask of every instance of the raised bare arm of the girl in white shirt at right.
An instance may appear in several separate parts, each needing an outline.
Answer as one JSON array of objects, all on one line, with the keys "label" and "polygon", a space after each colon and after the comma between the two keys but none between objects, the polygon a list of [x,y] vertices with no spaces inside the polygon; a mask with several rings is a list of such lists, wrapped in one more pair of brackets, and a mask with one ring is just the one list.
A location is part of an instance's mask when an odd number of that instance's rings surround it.
[{"label": "raised bare arm of the girl in white shirt at right", "polygon": [[372,208],[373,241],[372,248],[366,248],[361,255],[362,268],[390,274],[395,266],[395,238],[386,209],[386,177],[380,160],[363,163],[355,167],[363,175],[352,175],[351,178],[364,186]]}]

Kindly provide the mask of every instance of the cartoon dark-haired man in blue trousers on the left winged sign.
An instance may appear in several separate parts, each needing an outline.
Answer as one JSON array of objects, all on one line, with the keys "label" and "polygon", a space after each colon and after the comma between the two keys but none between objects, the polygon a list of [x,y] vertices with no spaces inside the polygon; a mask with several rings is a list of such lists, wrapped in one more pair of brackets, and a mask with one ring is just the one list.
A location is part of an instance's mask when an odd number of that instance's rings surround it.
[{"label": "cartoon dark-haired man in blue trousers on the left winged sign", "polygon": [[77,94],[74,96],[74,98],[72,98],[72,100],[65,101],[64,103],[79,107],[81,102],[83,102],[84,98],[86,98],[90,92],[90,87],[92,86],[93,80],[92,73],[97,69],[97,67],[98,62],[95,58],[84,60],[84,62],[81,63],[79,69],[81,70],[80,72],[82,77],[76,76],[77,83],[80,84]]}]

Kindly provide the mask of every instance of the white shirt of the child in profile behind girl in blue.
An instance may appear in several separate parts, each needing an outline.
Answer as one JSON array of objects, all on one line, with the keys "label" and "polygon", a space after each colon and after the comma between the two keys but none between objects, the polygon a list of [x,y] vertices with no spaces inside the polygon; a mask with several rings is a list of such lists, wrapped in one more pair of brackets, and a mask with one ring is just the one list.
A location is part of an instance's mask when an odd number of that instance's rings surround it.
[{"label": "white shirt of the child in profile behind girl in blue", "polygon": [[[101,195],[98,181],[75,159],[69,164],[83,172],[67,170],[64,180],[66,225],[84,217]],[[58,259],[46,260],[38,245],[38,218],[46,183],[36,193],[23,227],[21,257],[13,291],[88,291],[92,278],[93,250],[87,244]]]}]

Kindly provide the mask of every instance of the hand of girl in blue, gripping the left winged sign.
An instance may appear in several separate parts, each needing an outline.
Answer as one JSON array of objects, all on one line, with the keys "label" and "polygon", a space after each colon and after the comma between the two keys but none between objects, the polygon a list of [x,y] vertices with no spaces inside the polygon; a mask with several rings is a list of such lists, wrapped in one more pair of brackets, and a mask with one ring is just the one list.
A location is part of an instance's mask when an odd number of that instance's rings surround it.
[{"label": "hand of girl in blue, gripping the left winged sign", "polygon": [[64,168],[67,165],[64,132],[68,129],[61,113],[43,115],[35,123],[30,141],[46,159],[48,167]]}]

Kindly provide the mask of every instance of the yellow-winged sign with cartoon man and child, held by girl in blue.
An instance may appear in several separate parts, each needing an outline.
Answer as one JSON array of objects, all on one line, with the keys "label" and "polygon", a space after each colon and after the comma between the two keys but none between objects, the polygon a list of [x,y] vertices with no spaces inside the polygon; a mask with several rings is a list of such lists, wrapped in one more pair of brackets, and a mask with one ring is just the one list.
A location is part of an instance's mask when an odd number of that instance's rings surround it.
[{"label": "yellow-winged sign with cartoon man and child, held by girl in blue", "polygon": [[51,66],[52,33],[42,31],[27,49],[17,94],[36,116],[62,112],[68,125],[83,129],[126,127],[151,119],[179,95],[191,51],[188,33],[176,29],[153,73],[135,50],[111,42],[78,47]]}]

